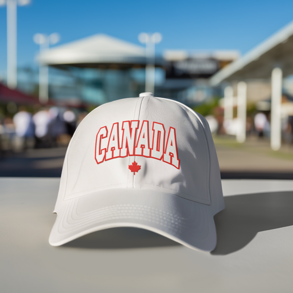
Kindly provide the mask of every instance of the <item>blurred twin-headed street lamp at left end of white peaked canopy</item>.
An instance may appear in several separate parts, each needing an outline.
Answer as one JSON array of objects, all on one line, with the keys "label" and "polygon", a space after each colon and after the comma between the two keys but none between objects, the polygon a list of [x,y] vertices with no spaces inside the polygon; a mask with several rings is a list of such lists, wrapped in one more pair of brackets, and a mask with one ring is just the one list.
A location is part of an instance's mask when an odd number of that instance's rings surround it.
[{"label": "blurred twin-headed street lamp at left end of white peaked canopy", "polygon": [[[40,45],[40,55],[45,50],[49,49],[49,45],[54,45],[60,41],[58,33],[50,34],[35,34],[33,40],[36,44]],[[49,68],[39,62],[39,101],[41,104],[48,103],[49,99]]]}]

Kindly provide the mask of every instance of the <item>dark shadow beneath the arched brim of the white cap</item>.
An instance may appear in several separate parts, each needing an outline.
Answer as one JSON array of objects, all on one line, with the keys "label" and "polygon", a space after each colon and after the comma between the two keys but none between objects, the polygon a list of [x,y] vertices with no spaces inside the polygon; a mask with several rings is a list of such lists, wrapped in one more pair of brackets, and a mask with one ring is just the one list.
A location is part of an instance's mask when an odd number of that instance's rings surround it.
[{"label": "dark shadow beneath the arched brim of the white cap", "polygon": [[119,227],[86,234],[63,244],[61,248],[129,249],[168,246],[181,246],[181,244],[149,230]]}]

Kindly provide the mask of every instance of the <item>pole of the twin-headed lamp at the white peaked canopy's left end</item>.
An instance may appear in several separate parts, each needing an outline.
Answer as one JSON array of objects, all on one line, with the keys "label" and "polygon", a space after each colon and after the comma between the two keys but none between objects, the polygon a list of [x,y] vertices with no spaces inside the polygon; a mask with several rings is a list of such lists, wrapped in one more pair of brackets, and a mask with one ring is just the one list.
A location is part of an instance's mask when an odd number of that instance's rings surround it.
[{"label": "pole of the twin-headed lamp at the white peaked canopy's left end", "polygon": [[[49,37],[44,36],[45,41],[40,44],[40,53],[49,48]],[[40,54],[40,55],[41,55]],[[46,65],[39,64],[39,101],[41,104],[48,103],[49,99],[49,68]]]}]

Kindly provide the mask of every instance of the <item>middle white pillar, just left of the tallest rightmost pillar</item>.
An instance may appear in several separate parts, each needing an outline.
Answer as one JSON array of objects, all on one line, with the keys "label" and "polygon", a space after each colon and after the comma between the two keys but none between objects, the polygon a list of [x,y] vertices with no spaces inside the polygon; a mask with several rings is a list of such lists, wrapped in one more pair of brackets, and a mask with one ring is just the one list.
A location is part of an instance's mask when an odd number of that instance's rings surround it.
[{"label": "middle white pillar, just left of the tallest rightmost pillar", "polygon": [[239,127],[236,134],[238,143],[246,140],[246,104],[247,104],[247,84],[239,82],[237,84],[237,120]]}]

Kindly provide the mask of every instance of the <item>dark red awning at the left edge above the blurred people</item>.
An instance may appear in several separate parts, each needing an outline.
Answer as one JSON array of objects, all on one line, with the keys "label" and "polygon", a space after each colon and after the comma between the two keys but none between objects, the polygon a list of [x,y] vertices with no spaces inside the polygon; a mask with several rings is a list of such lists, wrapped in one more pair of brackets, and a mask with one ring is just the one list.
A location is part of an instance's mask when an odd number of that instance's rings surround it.
[{"label": "dark red awning at the left edge above the blurred people", "polygon": [[28,96],[16,89],[0,84],[0,103],[14,102],[17,104],[40,104],[38,98]]}]

